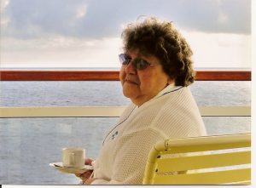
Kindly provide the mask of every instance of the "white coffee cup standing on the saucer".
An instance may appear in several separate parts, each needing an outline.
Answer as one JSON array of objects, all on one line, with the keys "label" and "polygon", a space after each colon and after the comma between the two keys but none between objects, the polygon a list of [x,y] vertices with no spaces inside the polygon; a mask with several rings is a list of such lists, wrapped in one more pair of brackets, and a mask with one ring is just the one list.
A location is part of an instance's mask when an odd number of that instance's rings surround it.
[{"label": "white coffee cup standing on the saucer", "polygon": [[62,164],[64,168],[84,168],[85,150],[83,148],[63,148]]}]

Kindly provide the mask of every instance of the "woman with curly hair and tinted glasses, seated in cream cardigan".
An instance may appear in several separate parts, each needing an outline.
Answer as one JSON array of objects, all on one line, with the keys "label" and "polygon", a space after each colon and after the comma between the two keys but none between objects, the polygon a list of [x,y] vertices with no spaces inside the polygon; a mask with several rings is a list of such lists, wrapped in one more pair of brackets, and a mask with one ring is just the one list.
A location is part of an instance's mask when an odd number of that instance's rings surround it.
[{"label": "woman with curly hair and tinted glasses, seated in cream cardigan", "polygon": [[206,135],[189,91],[192,51],[170,22],[154,18],[123,31],[119,79],[131,99],[119,123],[103,140],[94,172],[77,174],[84,184],[139,185],[148,151],[160,140]]}]

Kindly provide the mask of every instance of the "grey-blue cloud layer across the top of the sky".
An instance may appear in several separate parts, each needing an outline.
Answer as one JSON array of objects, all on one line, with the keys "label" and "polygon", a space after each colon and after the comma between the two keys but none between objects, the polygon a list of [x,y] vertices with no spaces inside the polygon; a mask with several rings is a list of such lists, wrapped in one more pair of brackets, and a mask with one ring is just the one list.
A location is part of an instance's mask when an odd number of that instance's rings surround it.
[{"label": "grey-blue cloud layer across the top of the sky", "polygon": [[9,4],[4,5],[3,17],[11,21],[2,33],[8,37],[116,37],[121,24],[143,14],[193,31],[250,32],[250,0],[3,0],[3,4]]}]

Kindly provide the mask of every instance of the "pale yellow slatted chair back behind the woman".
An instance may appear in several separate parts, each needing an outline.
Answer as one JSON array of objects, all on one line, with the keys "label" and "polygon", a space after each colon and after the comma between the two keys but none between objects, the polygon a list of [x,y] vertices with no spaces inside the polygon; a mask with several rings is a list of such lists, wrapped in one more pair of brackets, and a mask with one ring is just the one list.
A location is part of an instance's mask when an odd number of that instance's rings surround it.
[{"label": "pale yellow slatted chair back behind the woman", "polygon": [[251,134],[165,140],[148,154],[144,185],[248,185]]}]

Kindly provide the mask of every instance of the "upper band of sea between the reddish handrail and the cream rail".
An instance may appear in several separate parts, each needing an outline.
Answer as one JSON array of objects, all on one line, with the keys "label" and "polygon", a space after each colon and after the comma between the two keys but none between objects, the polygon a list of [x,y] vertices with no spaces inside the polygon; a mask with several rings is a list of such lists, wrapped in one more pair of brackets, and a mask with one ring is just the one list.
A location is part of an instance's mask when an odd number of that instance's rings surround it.
[{"label": "upper band of sea between the reddish handrail and the cream rail", "polygon": [[[119,82],[0,82],[0,106],[128,105]],[[251,82],[195,82],[198,105],[250,105]],[[113,100],[114,99],[114,100]]]}]

